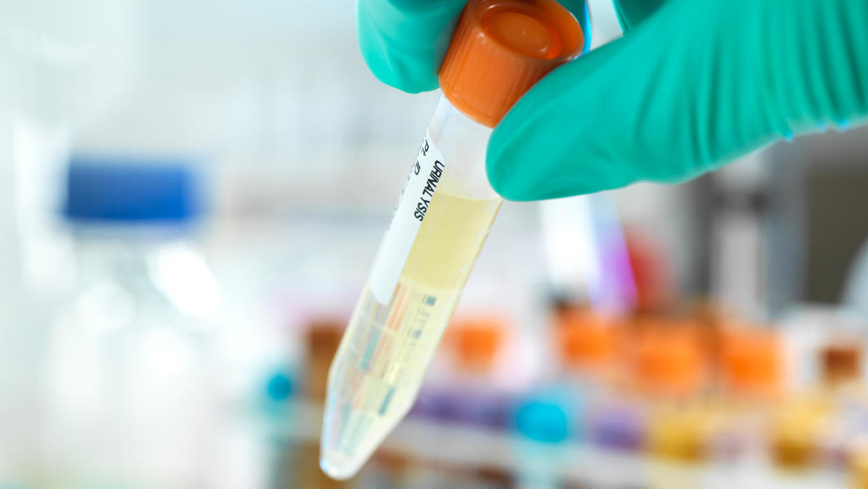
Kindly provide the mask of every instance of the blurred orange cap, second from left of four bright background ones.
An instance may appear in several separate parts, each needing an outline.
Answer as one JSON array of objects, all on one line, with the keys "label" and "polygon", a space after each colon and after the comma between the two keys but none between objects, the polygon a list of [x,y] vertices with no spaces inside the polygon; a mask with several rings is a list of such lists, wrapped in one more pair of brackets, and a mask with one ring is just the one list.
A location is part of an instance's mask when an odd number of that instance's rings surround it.
[{"label": "blurred orange cap, second from left of four bright background ones", "polygon": [[591,309],[571,309],[557,315],[555,340],[564,364],[601,370],[615,363],[620,340],[615,320]]}]

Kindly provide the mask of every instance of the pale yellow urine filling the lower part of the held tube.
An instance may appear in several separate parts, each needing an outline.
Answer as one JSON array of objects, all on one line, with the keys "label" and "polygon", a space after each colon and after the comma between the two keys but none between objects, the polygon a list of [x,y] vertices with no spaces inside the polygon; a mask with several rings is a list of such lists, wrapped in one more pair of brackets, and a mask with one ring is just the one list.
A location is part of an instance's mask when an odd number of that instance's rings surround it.
[{"label": "pale yellow urine filling the lower part of the held tube", "polygon": [[320,465],[352,474],[416,400],[503,199],[438,190],[388,304],[365,287],[329,373]]}]

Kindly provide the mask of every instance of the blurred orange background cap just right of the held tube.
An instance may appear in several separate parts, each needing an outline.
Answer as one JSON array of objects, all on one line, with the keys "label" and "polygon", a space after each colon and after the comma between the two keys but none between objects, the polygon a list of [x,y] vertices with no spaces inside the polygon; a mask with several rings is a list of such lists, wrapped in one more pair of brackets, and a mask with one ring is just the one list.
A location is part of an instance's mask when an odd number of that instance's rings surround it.
[{"label": "blurred orange background cap just right of the held tube", "polygon": [[450,327],[448,334],[455,348],[457,365],[464,370],[489,370],[503,347],[503,321],[494,317],[460,319]]}]

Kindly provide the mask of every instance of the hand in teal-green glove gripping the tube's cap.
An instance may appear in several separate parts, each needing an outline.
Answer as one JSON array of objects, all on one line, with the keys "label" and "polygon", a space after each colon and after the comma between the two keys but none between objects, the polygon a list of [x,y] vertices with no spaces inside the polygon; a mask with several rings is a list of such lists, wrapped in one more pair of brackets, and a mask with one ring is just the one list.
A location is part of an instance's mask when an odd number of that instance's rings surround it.
[{"label": "hand in teal-green glove gripping the tube's cap", "polygon": [[[399,89],[436,88],[463,4],[358,0],[365,62]],[[487,169],[499,194],[681,182],[868,115],[865,0],[615,0],[615,10],[623,37],[551,72],[496,127]]]}]

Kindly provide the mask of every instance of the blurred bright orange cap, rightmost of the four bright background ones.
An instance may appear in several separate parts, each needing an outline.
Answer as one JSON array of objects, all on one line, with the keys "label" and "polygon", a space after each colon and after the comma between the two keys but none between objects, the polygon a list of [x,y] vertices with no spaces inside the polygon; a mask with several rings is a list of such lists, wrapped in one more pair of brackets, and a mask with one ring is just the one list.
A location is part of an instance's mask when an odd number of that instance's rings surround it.
[{"label": "blurred bright orange cap, rightmost of the four bright background ones", "polygon": [[720,378],[727,391],[770,399],[782,389],[783,345],[767,329],[728,328],[720,334]]}]

